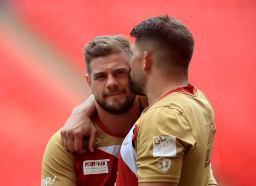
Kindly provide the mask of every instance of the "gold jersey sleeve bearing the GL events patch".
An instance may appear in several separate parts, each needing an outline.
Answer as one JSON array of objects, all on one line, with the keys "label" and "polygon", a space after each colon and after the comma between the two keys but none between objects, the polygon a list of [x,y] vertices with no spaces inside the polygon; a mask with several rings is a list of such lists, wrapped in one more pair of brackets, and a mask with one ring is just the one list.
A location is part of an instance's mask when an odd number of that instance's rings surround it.
[{"label": "gold jersey sleeve bearing the GL events patch", "polygon": [[157,107],[139,122],[135,141],[138,182],[178,183],[184,153],[195,144],[186,119],[176,109]]}]

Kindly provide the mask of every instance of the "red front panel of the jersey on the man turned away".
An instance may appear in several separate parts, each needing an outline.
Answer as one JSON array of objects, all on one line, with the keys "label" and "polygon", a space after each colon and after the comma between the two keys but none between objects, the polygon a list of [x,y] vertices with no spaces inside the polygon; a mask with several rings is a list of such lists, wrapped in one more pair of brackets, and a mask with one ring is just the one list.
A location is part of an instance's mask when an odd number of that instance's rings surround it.
[{"label": "red front panel of the jersey on the man turned away", "polygon": [[138,178],[124,162],[121,153],[118,162],[118,174],[116,177],[116,186],[138,186]]}]

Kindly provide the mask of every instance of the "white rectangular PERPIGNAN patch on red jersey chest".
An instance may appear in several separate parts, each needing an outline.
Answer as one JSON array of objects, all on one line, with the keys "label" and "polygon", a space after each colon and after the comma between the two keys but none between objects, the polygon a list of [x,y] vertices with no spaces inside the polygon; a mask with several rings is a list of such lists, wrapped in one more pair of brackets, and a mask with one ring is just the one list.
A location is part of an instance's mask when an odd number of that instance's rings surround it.
[{"label": "white rectangular PERPIGNAN patch on red jersey chest", "polygon": [[108,161],[109,159],[84,161],[84,175],[108,173]]}]

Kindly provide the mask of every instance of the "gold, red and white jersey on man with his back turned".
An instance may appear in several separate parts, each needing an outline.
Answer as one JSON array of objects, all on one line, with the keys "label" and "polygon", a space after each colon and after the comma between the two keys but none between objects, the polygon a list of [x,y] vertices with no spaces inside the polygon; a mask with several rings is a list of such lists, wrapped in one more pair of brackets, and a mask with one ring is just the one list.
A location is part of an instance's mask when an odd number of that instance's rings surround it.
[{"label": "gold, red and white jersey on man with his back turned", "polygon": [[212,105],[200,90],[189,84],[169,91],[145,111],[122,143],[116,186],[217,185],[210,166],[215,133]]}]

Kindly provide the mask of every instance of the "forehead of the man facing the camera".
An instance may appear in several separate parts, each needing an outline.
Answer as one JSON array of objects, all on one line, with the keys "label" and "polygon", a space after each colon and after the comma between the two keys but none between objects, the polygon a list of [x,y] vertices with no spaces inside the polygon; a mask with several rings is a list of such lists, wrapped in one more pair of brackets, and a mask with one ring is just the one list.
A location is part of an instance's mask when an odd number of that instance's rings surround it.
[{"label": "forehead of the man facing the camera", "polygon": [[130,69],[128,57],[126,53],[114,53],[104,57],[97,57],[90,62],[90,69],[92,73],[102,71],[115,70],[119,68]]}]

